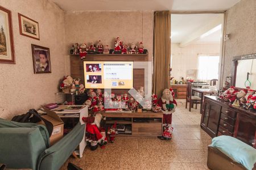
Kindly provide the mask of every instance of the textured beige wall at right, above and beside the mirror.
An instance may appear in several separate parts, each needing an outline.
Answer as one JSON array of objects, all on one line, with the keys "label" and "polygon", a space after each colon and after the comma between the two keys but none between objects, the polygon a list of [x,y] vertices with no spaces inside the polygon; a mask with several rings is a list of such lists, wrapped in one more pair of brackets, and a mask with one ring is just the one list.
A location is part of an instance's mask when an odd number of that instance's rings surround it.
[{"label": "textured beige wall at right, above and beside the mirror", "polygon": [[224,81],[232,72],[234,56],[256,53],[255,0],[242,0],[228,10],[226,33],[230,39],[225,41]]}]

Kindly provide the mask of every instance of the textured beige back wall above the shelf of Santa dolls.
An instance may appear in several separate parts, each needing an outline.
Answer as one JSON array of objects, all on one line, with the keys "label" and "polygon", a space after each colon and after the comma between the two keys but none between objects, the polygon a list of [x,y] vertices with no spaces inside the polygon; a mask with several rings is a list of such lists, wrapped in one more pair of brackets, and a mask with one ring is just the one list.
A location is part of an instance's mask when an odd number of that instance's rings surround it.
[{"label": "textured beige back wall above the shelf of Santa dolls", "polygon": [[[103,45],[114,48],[116,37],[130,44],[143,41],[144,48],[148,49],[149,57],[153,52],[153,21],[152,11],[92,11],[92,12],[65,12],[65,45],[67,53],[72,44],[101,40]],[[67,70],[69,56],[67,58]]]}]

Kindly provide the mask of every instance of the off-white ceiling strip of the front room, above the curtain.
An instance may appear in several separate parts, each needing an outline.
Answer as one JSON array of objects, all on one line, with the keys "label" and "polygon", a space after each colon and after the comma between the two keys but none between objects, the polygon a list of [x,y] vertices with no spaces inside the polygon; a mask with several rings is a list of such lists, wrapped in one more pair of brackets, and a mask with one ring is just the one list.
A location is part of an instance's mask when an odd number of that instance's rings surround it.
[{"label": "off-white ceiling strip of the front room, above the curtain", "polygon": [[49,0],[64,11],[224,11],[241,0]]}]

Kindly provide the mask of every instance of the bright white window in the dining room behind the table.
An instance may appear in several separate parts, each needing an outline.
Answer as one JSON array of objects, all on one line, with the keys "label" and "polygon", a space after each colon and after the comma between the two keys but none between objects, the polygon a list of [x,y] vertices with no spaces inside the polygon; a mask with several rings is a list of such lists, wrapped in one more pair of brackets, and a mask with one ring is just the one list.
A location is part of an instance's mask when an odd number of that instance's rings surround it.
[{"label": "bright white window in the dining room behind the table", "polygon": [[220,56],[199,56],[198,57],[198,79],[211,80],[218,79],[218,65]]}]

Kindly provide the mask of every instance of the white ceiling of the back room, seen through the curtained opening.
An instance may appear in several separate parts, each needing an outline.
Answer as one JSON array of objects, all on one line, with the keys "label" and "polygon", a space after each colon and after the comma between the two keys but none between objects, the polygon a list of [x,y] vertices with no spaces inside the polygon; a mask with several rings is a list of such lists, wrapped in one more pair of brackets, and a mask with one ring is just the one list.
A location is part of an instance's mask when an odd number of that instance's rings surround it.
[{"label": "white ceiling of the back room, seen through the curtained opening", "polygon": [[[219,43],[223,14],[172,14],[172,43]],[[216,28],[217,27],[217,28]],[[213,29],[215,28],[215,29]],[[204,35],[204,36],[202,36]]]}]

